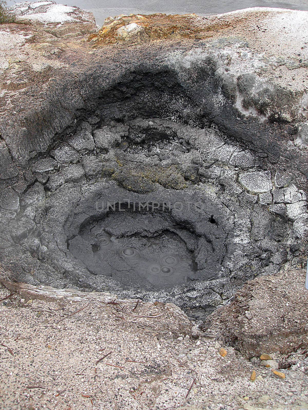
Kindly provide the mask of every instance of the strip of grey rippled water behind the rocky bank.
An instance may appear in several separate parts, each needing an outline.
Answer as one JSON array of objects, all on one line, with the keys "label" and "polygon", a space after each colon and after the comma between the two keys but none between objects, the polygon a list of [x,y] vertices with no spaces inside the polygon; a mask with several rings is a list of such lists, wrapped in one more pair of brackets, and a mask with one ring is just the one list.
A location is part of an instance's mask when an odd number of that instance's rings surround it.
[{"label": "strip of grey rippled water behind the rocky bank", "polygon": [[[7,5],[13,5],[14,1],[7,1]],[[308,10],[307,0],[272,1],[272,0],[57,0],[57,3],[64,3],[68,6],[78,6],[81,9],[93,12],[97,24],[102,25],[108,16],[130,13],[167,13],[184,14],[197,13],[201,16],[209,14],[226,13],[228,11],[245,9],[246,7],[279,7],[284,9]]]}]

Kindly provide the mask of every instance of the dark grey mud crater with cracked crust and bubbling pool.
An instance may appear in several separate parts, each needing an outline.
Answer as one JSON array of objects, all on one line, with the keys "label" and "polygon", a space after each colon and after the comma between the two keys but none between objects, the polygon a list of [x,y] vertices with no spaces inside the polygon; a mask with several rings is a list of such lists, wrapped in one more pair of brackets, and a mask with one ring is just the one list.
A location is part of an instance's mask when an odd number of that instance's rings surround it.
[{"label": "dark grey mud crater with cracked crust and bubbling pool", "polygon": [[2,190],[12,278],[202,319],[247,280],[303,264],[303,178],[277,142],[290,126],[247,117],[204,76],[124,75],[31,151]]}]

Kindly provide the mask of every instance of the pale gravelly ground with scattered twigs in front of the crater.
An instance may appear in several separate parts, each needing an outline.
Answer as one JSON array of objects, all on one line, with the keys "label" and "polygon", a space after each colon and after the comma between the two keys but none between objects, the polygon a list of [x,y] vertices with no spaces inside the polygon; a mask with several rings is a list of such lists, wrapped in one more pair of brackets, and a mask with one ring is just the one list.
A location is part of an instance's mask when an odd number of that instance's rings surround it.
[{"label": "pale gravelly ground with scattered twigs in front of the crater", "polygon": [[[0,289],[0,299],[8,294]],[[223,358],[217,323],[209,329],[216,337],[192,339],[176,334],[172,306],[139,303],[133,311],[134,306],[27,303],[16,294],[2,300],[0,408],[308,409],[304,355],[293,356],[297,370],[281,370],[282,380],[231,347],[224,346]],[[133,317],[115,308],[162,316]],[[282,360],[278,353],[272,356]],[[253,369],[255,382],[249,380]]]}]

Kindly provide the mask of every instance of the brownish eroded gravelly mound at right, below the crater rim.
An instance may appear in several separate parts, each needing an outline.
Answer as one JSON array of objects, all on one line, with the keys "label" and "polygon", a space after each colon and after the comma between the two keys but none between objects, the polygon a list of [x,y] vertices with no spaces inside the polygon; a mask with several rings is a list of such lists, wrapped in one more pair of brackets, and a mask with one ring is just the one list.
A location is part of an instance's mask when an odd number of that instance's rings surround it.
[{"label": "brownish eroded gravelly mound at right, below the crater rim", "polygon": [[[290,354],[308,346],[306,270],[287,268],[276,276],[247,282],[228,306],[218,310],[226,341],[244,355]],[[215,317],[215,319],[214,319]]]}]

